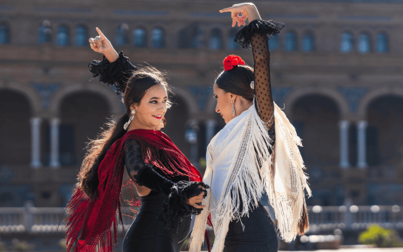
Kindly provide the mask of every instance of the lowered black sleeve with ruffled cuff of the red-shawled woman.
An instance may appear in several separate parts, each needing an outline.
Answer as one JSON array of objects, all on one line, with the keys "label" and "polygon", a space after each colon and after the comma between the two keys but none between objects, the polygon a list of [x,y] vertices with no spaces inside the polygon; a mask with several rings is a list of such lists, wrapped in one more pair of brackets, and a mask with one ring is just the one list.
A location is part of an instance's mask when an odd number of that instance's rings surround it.
[{"label": "lowered black sleeve with ruffled cuff of the red-shawled woman", "polygon": [[[159,219],[168,229],[177,229],[184,217],[191,214],[200,214],[201,209],[194,208],[186,203],[186,199],[203,192],[198,185],[210,188],[202,182],[179,181],[159,174],[151,164],[144,163],[142,148],[138,141],[129,139],[124,143],[124,163],[130,178],[141,186],[167,195]],[[207,191],[204,190],[207,196]]]}]

